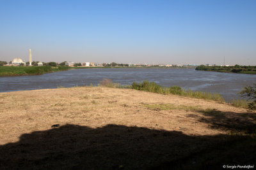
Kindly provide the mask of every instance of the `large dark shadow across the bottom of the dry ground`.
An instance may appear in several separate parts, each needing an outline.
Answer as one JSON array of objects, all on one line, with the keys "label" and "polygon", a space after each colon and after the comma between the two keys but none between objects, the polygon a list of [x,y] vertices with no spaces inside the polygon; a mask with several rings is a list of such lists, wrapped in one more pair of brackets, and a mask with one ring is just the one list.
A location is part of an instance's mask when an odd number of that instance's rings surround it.
[{"label": "large dark shadow across the bottom of the dry ground", "polygon": [[0,146],[0,169],[222,169],[253,164],[255,136],[63,125]]}]

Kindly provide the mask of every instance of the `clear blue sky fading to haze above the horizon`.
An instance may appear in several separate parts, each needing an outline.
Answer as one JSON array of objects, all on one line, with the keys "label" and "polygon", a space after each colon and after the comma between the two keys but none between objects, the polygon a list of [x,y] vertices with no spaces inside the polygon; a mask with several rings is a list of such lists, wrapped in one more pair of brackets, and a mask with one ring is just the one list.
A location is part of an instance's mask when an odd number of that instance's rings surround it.
[{"label": "clear blue sky fading to haze above the horizon", "polygon": [[255,0],[0,3],[0,60],[256,65]]}]

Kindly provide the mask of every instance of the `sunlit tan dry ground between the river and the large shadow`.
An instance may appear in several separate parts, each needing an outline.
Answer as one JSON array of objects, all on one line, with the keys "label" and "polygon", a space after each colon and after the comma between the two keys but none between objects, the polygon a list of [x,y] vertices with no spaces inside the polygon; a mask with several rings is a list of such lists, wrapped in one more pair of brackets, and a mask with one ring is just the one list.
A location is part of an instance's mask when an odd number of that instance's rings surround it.
[{"label": "sunlit tan dry ground between the river and the large shadow", "polygon": [[225,129],[212,129],[214,122],[202,121],[214,115],[182,109],[150,110],[145,104],[175,104],[218,110],[231,122],[252,119],[244,115],[240,117],[239,113],[247,111],[230,104],[131,89],[76,87],[5,92],[0,94],[0,145],[19,141],[19,136],[24,133],[51,129],[53,124],[92,128],[115,124],[181,131],[188,135],[227,132]]}]

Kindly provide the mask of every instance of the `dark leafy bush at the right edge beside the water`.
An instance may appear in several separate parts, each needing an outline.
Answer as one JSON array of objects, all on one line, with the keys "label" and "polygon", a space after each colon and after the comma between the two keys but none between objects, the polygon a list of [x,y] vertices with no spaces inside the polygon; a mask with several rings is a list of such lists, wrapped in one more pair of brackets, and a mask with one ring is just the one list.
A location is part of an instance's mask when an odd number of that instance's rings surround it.
[{"label": "dark leafy bush at the right edge beside the water", "polygon": [[242,97],[246,97],[248,100],[250,100],[250,103],[248,103],[248,108],[250,110],[256,110],[256,83],[254,83],[252,86],[246,86],[244,89],[239,92]]}]

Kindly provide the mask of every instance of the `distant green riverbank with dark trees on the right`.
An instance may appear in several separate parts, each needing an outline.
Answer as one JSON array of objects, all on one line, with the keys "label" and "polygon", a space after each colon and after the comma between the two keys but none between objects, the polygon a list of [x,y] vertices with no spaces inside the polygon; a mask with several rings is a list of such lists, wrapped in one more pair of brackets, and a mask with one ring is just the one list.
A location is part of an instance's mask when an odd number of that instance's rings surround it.
[{"label": "distant green riverbank with dark trees on the right", "polygon": [[256,66],[198,66],[196,70],[200,71],[216,71],[222,73],[243,73],[256,74]]}]

